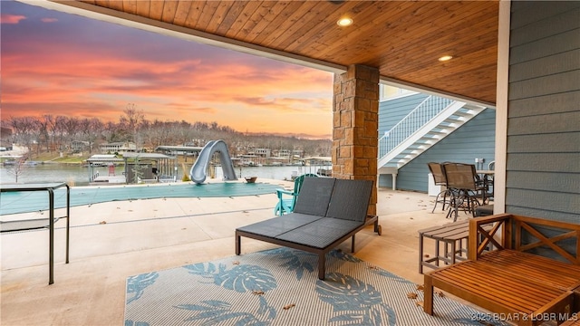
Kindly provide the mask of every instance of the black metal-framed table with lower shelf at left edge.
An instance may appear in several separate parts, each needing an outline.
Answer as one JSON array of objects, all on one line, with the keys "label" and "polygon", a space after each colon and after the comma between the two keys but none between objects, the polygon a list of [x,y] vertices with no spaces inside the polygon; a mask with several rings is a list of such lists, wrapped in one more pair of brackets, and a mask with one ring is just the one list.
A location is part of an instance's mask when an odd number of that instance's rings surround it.
[{"label": "black metal-framed table with lower shelf at left edge", "polygon": [[[1,232],[33,230],[46,227],[48,223],[49,229],[49,272],[48,283],[54,283],[54,190],[66,187],[66,264],[69,264],[69,228],[70,228],[70,213],[71,213],[71,188],[66,183],[39,183],[39,184],[16,184],[0,186],[0,193],[3,192],[19,192],[19,191],[46,191],[48,192],[48,213],[49,218],[11,221],[2,223]],[[61,218],[61,217],[59,217]]]}]

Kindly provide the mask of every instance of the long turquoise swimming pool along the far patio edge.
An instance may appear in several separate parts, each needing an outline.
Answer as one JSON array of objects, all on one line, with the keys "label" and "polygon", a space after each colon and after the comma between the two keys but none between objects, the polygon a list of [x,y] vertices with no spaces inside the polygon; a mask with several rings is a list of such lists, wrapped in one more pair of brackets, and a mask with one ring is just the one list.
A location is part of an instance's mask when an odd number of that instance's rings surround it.
[{"label": "long turquoise swimming pool along the far patio edge", "polygon": [[[71,206],[116,200],[170,197],[240,197],[274,194],[280,186],[266,183],[220,182],[208,184],[162,184],[103,187],[71,187]],[[0,216],[48,209],[45,192],[5,192],[0,194]],[[54,208],[66,204],[66,190],[54,191]]]}]

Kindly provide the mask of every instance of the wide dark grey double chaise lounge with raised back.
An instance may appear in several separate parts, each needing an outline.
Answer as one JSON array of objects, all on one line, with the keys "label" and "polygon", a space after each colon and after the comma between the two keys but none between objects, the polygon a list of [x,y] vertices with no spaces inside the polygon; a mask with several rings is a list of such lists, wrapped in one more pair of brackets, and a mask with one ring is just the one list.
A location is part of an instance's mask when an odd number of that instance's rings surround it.
[{"label": "wide dark grey double chaise lounge with raised back", "polygon": [[371,193],[370,180],[306,177],[293,213],[236,229],[236,254],[242,236],[318,254],[324,280],[326,253],[351,236],[354,252],[354,235],[366,225],[379,233],[378,216],[367,216]]}]

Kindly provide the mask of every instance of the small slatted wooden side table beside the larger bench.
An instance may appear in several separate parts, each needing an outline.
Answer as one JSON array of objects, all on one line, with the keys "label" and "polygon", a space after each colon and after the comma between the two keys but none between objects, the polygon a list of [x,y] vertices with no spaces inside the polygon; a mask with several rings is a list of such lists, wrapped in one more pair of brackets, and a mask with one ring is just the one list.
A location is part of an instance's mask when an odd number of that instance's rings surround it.
[{"label": "small slatted wooden side table beside the larger bench", "polygon": [[[469,237],[469,220],[433,226],[419,230],[419,273],[423,273],[423,266],[438,269],[440,262],[455,264],[456,261],[466,260],[467,239]],[[424,239],[435,241],[435,255],[424,256]],[[465,245],[463,242],[465,241]],[[440,245],[443,252],[440,252]],[[426,258],[426,259],[425,259]]]}]

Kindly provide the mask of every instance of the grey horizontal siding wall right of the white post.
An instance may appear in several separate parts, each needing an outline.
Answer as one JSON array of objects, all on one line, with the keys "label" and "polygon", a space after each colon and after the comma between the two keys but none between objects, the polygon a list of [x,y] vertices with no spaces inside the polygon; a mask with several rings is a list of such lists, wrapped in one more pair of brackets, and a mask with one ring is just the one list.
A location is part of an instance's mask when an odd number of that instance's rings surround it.
[{"label": "grey horizontal siding wall right of the white post", "polygon": [[512,2],[506,211],[580,223],[580,2]]}]

